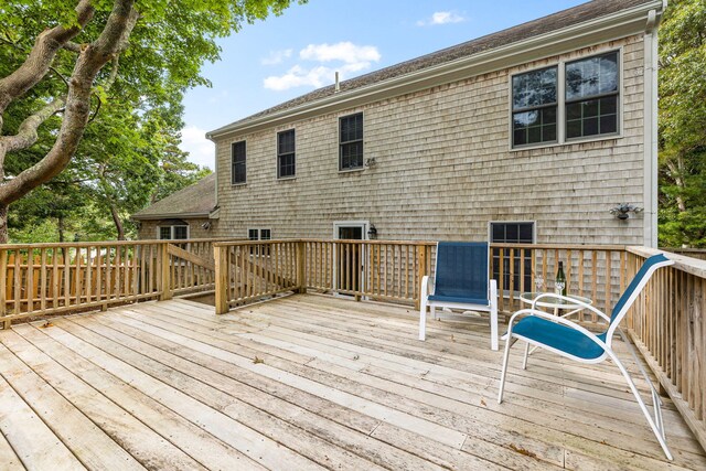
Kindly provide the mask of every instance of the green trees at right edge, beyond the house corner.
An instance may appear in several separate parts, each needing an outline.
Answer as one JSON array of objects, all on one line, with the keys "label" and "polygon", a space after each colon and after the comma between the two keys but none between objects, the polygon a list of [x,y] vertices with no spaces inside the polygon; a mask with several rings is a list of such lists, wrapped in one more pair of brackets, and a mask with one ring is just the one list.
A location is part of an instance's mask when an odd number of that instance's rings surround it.
[{"label": "green trees at right edge, beyond the house corner", "polygon": [[660,28],[660,245],[706,247],[706,4],[673,0]]}]

